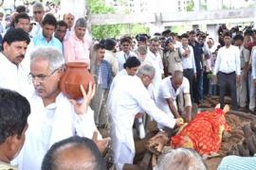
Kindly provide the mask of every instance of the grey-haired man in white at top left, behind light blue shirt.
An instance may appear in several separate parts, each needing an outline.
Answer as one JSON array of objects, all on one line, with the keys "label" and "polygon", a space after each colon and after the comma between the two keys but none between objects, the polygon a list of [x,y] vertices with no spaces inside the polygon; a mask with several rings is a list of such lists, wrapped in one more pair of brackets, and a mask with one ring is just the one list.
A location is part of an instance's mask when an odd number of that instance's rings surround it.
[{"label": "grey-haired man in white at top left, behind light blue shirt", "polygon": [[42,29],[42,26],[43,26],[42,21],[43,21],[44,15],[45,15],[45,8],[43,4],[35,3],[33,5],[33,18],[36,22],[35,23],[36,26],[33,26],[30,32],[30,35],[32,37],[35,37],[39,33],[39,31]]}]

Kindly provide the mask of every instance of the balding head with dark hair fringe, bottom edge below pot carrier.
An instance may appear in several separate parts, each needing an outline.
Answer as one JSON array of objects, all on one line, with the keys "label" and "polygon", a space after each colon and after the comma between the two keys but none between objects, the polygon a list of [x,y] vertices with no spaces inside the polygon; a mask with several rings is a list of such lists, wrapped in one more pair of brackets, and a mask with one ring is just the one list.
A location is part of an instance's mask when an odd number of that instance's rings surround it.
[{"label": "balding head with dark hair fringe, bottom edge below pot carrier", "polygon": [[67,167],[68,170],[106,170],[106,162],[93,141],[74,136],[53,144],[42,164],[42,170],[61,170]]}]

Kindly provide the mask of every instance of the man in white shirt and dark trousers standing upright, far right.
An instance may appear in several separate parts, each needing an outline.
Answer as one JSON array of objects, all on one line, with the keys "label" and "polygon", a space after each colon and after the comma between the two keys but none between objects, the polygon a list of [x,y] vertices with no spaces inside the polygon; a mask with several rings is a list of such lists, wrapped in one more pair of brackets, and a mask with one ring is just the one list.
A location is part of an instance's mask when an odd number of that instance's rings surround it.
[{"label": "man in white shirt and dark trousers standing upright, far right", "polygon": [[224,97],[228,86],[231,94],[232,110],[237,110],[236,83],[239,83],[240,80],[240,51],[238,47],[231,44],[229,32],[224,33],[224,42],[225,46],[221,47],[218,51],[212,80],[216,82],[216,75],[218,74],[221,109],[223,109],[225,105]]}]

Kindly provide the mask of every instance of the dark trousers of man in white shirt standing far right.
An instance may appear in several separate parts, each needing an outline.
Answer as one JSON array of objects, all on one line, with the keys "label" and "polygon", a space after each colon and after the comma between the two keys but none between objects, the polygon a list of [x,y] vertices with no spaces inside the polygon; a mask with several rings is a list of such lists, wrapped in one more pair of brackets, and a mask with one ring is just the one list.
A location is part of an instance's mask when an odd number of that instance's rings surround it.
[{"label": "dark trousers of man in white shirt standing far right", "polygon": [[224,97],[227,92],[227,87],[229,88],[232,110],[237,110],[237,98],[236,98],[236,75],[235,72],[225,74],[222,72],[218,73],[218,80],[220,84],[220,105],[221,109],[224,108]]}]

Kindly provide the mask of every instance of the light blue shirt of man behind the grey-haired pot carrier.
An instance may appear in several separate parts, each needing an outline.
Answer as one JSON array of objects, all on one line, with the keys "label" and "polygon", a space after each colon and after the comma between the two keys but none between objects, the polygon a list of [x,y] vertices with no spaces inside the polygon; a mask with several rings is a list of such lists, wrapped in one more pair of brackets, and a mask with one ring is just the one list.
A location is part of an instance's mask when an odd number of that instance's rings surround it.
[{"label": "light blue shirt of man behind the grey-haired pot carrier", "polygon": [[41,30],[37,36],[33,38],[33,42],[35,46],[51,46],[55,49],[58,49],[63,54],[63,44],[54,36],[51,37],[49,42],[46,42],[46,38],[43,35],[43,31]]}]

